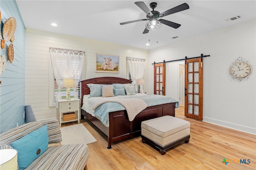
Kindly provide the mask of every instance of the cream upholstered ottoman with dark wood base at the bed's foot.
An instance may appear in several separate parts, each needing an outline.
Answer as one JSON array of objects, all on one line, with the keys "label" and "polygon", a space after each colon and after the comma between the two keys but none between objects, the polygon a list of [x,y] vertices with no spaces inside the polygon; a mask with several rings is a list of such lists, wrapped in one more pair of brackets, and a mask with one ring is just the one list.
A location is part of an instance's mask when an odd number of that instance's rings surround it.
[{"label": "cream upholstered ottoman with dark wood base at the bed's foot", "polygon": [[190,122],[172,116],[163,116],[141,123],[143,143],[149,143],[164,155],[172,146],[189,142]]}]

